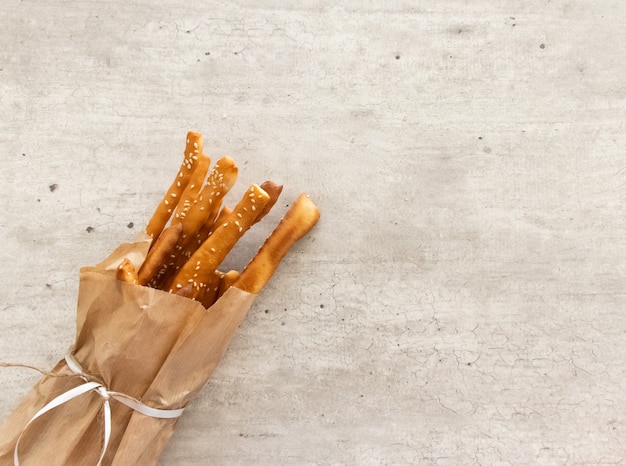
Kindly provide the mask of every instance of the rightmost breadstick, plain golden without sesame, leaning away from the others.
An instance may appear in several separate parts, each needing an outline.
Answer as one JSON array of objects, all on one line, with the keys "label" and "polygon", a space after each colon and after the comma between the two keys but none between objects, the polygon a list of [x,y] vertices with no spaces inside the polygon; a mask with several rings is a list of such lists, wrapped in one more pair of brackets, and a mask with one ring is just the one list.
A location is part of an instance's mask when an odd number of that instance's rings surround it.
[{"label": "rightmost breadstick, plain golden without sesame, leaning away from the others", "polygon": [[289,249],[313,228],[319,217],[319,210],[309,196],[298,196],[233,286],[258,294],[272,278]]}]

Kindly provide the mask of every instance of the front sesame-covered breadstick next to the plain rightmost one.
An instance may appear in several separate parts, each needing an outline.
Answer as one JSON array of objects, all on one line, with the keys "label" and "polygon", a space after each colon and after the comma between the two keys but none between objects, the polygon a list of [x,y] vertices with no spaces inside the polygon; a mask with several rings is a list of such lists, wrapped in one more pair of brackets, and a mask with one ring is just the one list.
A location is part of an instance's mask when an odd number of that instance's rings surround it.
[{"label": "front sesame-covered breadstick next to the plain rightmost one", "polygon": [[195,297],[201,288],[205,288],[215,275],[215,270],[239,238],[252,226],[257,214],[268,201],[269,196],[265,191],[255,184],[250,186],[224,223],[216,226],[211,236],[176,274],[170,292],[187,283],[193,283]]}]

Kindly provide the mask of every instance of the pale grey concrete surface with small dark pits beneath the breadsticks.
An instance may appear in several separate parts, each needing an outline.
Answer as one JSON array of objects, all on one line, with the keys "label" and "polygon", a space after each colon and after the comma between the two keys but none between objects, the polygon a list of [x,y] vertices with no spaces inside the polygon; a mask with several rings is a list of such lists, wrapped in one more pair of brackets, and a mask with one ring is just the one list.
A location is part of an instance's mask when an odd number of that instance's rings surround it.
[{"label": "pale grey concrete surface with small dark pits beneath the breadsticks", "polygon": [[155,5],[0,3],[0,360],[63,355],[194,129],[285,185],[234,264],[322,220],[163,465],[626,463],[623,1]]}]

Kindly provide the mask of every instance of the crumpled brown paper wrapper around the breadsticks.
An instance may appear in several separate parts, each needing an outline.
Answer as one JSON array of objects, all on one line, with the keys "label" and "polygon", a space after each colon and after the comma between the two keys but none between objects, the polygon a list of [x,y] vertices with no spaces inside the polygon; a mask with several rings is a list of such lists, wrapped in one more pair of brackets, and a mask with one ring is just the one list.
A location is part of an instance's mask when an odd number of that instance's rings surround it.
[{"label": "crumpled brown paper wrapper around the breadsticks", "polygon": [[[124,257],[138,267],[149,238],[123,244],[80,271],[74,359],[90,380],[158,409],[184,408],[206,384],[255,295],[230,288],[209,309],[197,301],[122,283]],[[24,397],[0,427],[0,465],[12,465],[18,437],[56,396],[85,383],[64,359]],[[24,431],[19,459],[30,465],[95,465],[103,445],[104,399],[86,393],[47,412]],[[176,419],[140,414],[110,400],[111,438],[103,465],[154,465]]]}]

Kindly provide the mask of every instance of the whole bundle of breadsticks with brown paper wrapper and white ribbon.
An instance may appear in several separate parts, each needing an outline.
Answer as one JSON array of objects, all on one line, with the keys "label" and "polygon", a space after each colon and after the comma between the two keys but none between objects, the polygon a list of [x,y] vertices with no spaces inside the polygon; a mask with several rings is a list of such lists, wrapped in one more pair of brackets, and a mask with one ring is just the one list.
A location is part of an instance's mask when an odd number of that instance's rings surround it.
[{"label": "whole bundle of breadsticks with brown paper wrapper and white ribbon", "polygon": [[256,294],[319,219],[299,196],[242,271],[223,271],[282,186],[252,184],[231,208],[236,165],[209,164],[202,135],[189,132],[145,234],[81,268],[74,344],[0,425],[0,465],[158,463]]}]

